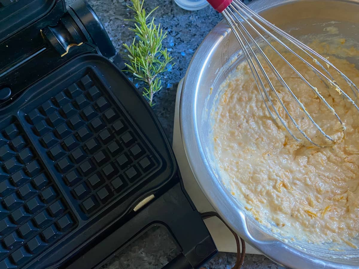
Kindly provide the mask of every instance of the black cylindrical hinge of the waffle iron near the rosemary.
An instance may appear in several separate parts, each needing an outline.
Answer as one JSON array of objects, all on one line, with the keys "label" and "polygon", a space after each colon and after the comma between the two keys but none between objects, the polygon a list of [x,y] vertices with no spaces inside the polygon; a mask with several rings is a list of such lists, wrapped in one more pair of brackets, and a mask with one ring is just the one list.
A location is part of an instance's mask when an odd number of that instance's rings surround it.
[{"label": "black cylindrical hinge of the waffle iron near the rosemary", "polygon": [[56,26],[42,28],[41,36],[61,57],[69,53],[71,47],[81,46],[85,42],[96,46],[98,52],[105,57],[116,54],[98,16],[89,4],[82,0],[70,5]]}]

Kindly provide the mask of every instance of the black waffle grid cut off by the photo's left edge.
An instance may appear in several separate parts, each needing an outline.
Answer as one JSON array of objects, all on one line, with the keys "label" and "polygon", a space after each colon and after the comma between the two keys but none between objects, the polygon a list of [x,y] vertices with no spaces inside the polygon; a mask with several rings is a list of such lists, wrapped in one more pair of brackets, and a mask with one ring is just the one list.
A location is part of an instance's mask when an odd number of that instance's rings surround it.
[{"label": "black waffle grid cut off by the photo's left edge", "polygon": [[0,268],[20,268],[77,226],[15,117],[0,123]]}]

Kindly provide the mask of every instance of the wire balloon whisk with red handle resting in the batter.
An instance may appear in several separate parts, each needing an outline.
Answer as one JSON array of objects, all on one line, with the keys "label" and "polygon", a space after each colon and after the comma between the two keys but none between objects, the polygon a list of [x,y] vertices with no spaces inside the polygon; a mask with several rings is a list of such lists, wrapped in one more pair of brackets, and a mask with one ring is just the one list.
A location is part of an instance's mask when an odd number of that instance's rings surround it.
[{"label": "wire balloon whisk with red handle resting in the batter", "polygon": [[[354,102],[353,99],[356,100],[356,94],[359,92],[357,86],[340,70],[338,70],[332,63],[330,63],[327,58],[322,57],[319,53],[315,52],[313,49],[309,48],[307,45],[298,41],[294,37],[285,33],[283,30],[279,29],[275,25],[268,22],[266,19],[262,18],[250,8],[248,8],[245,4],[243,4],[240,0],[208,0],[208,2],[213,6],[213,8],[220,12],[225,20],[228,22],[229,26],[232,28],[233,33],[235,34],[238,42],[242,48],[244,57],[246,58],[252,74],[255,78],[255,82],[257,84],[258,90],[261,94],[261,97],[265,103],[266,109],[269,114],[275,121],[275,116],[279,119],[279,121],[283,124],[286,131],[298,142],[301,141],[294,133],[290,130],[288,123],[285,122],[283,117],[280,116],[278,110],[275,108],[273,101],[271,100],[269,93],[266,90],[265,85],[269,87],[269,90],[272,91],[276,100],[279,102],[280,107],[282,107],[285,111],[285,114],[288,115],[289,121],[292,122],[295,128],[299,131],[299,133],[306,138],[312,145],[321,147],[318,143],[314,142],[312,138],[310,138],[306,132],[299,126],[298,122],[292,117],[288,109],[286,108],[283,100],[281,100],[278,91],[275,89],[274,83],[270,80],[268,71],[265,71],[264,65],[269,67],[270,72],[273,72],[276,78],[279,80],[280,84],[284,89],[289,91],[290,96],[292,96],[295,102],[299,105],[300,109],[304,112],[306,117],[308,117],[309,121],[317,128],[317,130],[330,141],[334,141],[334,138],[327,135],[325,131],[317,124],[317,122],[313,119],[311,114],[307,111],[306,107],[304,107],[303,103],[300,101],[298,96],[296,96],[290,86],[286,83],[283,76],[280,72],[275,68],[270,59],[267,57],[266,53],[261,48],[260,44],[264,43],[267,47],[273,49],[273,51],[280,57],[288,67],[298,75],[298,77],[302,80],[303,83],[308,85],[314,93],[320,98],[321,102],[323,102],[327,109],[335,116],[337,121],[341,124],[343,130],[345,130],[345,125],[340,119],[339,115],[335,112],[334,108],[328,104],[326,99],[321,95],[321,93],[317,90],[317,88],[310,83],[310,81],[305,78],[300,72],[293,66],[281,53],[278,49],[275,48],[273,42],[270,42],[268,39],[271,38],[274,41],[275,45],[280,46],[286,52],[293,53],[300,61],[302,61],[309,69],[311,69],[317,77],[319,77],[322,82],[327,85],[327,87],[333,87],[339,94],[343,96],[349,103],[355,106],[355,108],[359,111],[358,106]],[[253,34],[256,34],[256,39],[253,37]],[[288,45],[283,42],[284,40]],[[298,49],[300,54],[303,54],[306,58],[313,61],[313,64],[304,60],[299,53],[295,52],[293,48]],[[261,57],[258,57],[260,55]],[[261,60],[260,60],[261,59]],[[321,62],[322,63],[321,63]],[[350,86],[351,91],[353,92],[353,99],[347,93],[345,93],[337,81],[334,80],[333,76],[328,72],[325,68],[332,67]],[[314,74],[313,73],[313,74]],[[272,109],[272,110],[271,110]]]}]

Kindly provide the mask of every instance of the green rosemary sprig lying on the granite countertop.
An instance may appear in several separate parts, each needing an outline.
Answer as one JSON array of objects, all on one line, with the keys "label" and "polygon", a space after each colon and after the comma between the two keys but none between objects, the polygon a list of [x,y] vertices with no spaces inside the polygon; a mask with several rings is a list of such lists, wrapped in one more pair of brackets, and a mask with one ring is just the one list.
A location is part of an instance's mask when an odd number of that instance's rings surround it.
[{"label": "green rosemary sprig lying on the granite countertop", "polygon": [[[128,19],[135,23],[132,30],[137,37],[132,44],[128,46],[123,44],[127,49],[125,59],[128,71],[137,79],[144,81],[148,86],[144,87],[143,96],[148,99],[150,106],[153,103],[153,95],[161,88],[161,80],[158,75],[169,68],[167,65],[173,60],[169,55],[167,48],[162,48],[162,41],[167,36],[167,32],[162,31],[159,25],[155,25],[154,18],[148,23],[149,16],[158,8],[151,10],[148,14],[143,9],[141,0],[131,0],[132,6],[128,8],[135,11],[134,19]],[[171,66],[173,66],[172,64]]]}]

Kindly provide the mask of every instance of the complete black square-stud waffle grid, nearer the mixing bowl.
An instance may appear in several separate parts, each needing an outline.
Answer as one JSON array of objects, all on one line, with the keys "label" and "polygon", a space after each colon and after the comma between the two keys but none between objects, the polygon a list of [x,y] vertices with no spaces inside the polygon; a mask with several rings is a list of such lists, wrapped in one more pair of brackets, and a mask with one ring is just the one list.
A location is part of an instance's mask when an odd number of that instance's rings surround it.
[{"label": "complete black square-stud waffle grid, nearer the mixing bowl", "polygon": [[25,119],[84,219],[160,166],[92,70],[31,108]]}]

